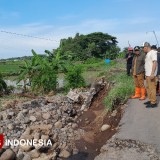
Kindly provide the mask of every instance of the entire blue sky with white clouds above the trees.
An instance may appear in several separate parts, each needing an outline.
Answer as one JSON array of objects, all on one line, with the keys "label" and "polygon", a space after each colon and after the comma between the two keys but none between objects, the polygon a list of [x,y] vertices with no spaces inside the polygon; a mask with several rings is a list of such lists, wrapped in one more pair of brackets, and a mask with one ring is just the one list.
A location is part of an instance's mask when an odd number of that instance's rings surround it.
[{"label": "entire blue sky with white clouds above the trees", "polygon": [[128,41],[157,44],[159,6],[160,0],[0,0],[0,59],[31,55],[31,49],[43,54],[76,33],[108,33],[121,49]]}]

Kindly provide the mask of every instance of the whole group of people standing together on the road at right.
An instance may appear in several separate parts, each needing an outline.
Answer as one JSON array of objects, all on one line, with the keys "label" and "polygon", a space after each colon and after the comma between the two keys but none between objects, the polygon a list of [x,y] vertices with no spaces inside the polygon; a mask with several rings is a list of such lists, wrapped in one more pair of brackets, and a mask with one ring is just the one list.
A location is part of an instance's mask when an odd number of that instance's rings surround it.
[{"label": "whole group of people standing together on the road at right", "polygon": [[160,95],[160,47],[157,49],[156,45],[151,46],[148,42],[142,48],[129,47],[125,58],[127,75],[133,75],[135,85],[135,94],[131,98],[145,100],[147,93],[146,108],[157,107],[156,95]]}]

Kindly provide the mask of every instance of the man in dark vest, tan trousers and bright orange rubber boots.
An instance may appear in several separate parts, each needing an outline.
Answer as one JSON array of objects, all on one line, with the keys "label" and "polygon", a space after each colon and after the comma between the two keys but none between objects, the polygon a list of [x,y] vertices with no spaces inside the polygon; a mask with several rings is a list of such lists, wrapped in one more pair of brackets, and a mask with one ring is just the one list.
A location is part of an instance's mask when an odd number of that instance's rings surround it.
[{"label": "man in dark vest, tan trousers and bright orange rubber boots", "polygon": [[132,73],[135,85],[135,95],[131,98],[139,98],[140,100],[146,99],[146,89],[144,86],[144,64],[145,64],[145,53],[140,51],[139,46],[134,47],[135,56],[132,62]]}]

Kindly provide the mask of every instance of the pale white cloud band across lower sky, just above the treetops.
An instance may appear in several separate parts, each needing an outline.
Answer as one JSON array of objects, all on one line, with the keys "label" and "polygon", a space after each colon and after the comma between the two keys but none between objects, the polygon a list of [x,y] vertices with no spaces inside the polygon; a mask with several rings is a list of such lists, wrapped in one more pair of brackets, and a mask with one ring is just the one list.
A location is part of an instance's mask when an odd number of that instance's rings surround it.
[{"label": "pale white cloud band across lower sky, just above the treetops", "polygon": [[[143,23],[146,25],[146,23],[150,22],[150,19],[147,22],[147,19],[142,17],[132,20],[92,19],[66,26],[31,23],[20,26],[3,27],[0,30],[52,39],[53,41],[0,32],[0,58],[31,55],[31,49],[42,54],[45,49],[51,50],[57,48],[60,39],[74,36],[77,32],[80,34],[88,34],[91,32],[104,32],[111,34],[117,37],[119,42],[118,45],[121,48],[128,46],[128,40],[133,46],[141,45],[144,41],[149,41],[151,44],[155,44],[156,41],[152,32],[146,34],[144,29],[143,31],[130,30],[130,25],[134,26],[135,24],[135,27],[139,27]],[[160,35],[160,31],[157,30],[156,34]]]}]

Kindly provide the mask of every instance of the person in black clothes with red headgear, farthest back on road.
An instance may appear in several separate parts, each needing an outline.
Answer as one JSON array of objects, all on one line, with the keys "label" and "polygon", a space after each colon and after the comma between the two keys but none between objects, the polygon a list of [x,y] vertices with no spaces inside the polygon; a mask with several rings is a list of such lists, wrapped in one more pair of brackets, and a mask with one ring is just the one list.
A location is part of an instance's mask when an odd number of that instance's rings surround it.
[{"label": "person in black clothes with red headgear, farthest back on road", "polygon": [[133,48],[128,48],[128,53],[125,56],[127,61],[127,75],[130,76],[130,71],[132,69],[132,60],[133,60]]}]

